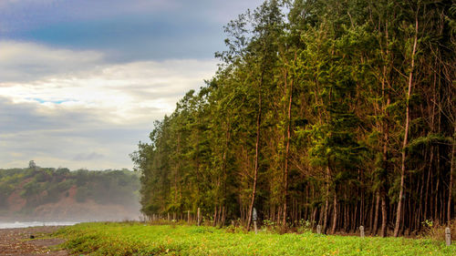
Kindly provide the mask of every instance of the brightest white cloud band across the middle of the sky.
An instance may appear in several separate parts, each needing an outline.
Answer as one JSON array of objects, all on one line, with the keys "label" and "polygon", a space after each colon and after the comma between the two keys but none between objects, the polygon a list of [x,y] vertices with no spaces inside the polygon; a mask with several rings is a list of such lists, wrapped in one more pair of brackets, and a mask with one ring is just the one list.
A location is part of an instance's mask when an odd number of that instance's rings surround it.
[{"label": "brightest white cloud band across the middle of the sky", "polygon": [[216,63],[169,59],[108,64],[98,52],[0,42],[0,94],[48,109],[96,106],[112,117],[131,117],[138,109],[170,112],[185,91],[212,77]]}]

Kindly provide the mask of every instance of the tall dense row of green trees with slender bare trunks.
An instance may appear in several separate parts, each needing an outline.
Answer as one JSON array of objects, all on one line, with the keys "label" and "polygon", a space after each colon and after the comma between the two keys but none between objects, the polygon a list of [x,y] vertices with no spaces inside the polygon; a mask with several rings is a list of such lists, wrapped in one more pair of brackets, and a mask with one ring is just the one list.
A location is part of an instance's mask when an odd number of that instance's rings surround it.
[{"label": "tall dense row of green trees with slender bare trunks", "polygon": [[[132,154],[147,215],[394,236],[454,216],[456,4],[267,1]],[[215,214],[214,214],[215,213]]]}]

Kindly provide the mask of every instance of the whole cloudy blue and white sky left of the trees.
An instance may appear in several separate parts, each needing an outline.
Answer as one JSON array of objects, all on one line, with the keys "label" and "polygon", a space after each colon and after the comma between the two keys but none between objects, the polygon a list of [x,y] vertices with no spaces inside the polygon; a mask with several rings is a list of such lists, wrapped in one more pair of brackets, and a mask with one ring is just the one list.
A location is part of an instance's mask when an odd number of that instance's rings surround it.
[{"label": "whole cloudy blue and white sky left of the trees", "polygon": [[0,0],[0,169],[132,169],[262,0]]}]

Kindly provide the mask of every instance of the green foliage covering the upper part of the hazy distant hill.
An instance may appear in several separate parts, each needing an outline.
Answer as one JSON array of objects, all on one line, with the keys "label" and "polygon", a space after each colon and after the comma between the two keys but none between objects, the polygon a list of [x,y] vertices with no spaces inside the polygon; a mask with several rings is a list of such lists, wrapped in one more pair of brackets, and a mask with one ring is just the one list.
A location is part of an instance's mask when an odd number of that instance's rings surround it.
[{"label": "green foliage covering the upper part of the hazy distant hill", "polygon": [[138,203],[140,178],[130,170],[0,169],[0,209],[8,209],[7,199],[13,193],[26,200],[27,208],[34,208],[68,197],[73,187],[78,202],[129,207]]}]

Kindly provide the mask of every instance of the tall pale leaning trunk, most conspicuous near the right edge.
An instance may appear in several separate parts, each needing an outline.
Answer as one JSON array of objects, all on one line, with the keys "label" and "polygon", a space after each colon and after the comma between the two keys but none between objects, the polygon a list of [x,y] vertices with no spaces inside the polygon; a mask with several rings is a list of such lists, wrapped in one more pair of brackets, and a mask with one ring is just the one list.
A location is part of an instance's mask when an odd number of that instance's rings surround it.
[{"label": "tall pale leaning trunk, most conspicuous near the right edge", "polygon": [[407,106],[406,106],[406,119],[405,119],[405,134],[404,140],[402,143],[402,159],[400,162],[400,190],[399,190],[399,202],[398,202],[398,211],[396,212],[396,225],[394,227],[394,236],[399,236],[399,227],[401,223],[401,215],[402,215],[402,198],[404,196],[404,181],[405,181],[405,160],[406,160],[406,148],[407,148],[407,141],[409,137],[409,122],[410,122],[410,96],[411,96],[411,89],[413,86],[413,69],[415,68],[415,53],[417,50],[417,43],[418,43],[418,12],[415,15],[415,38],[413,42],[413,50],[411,52],[411,67],[409,73],[409,88],[407,90]]}]

